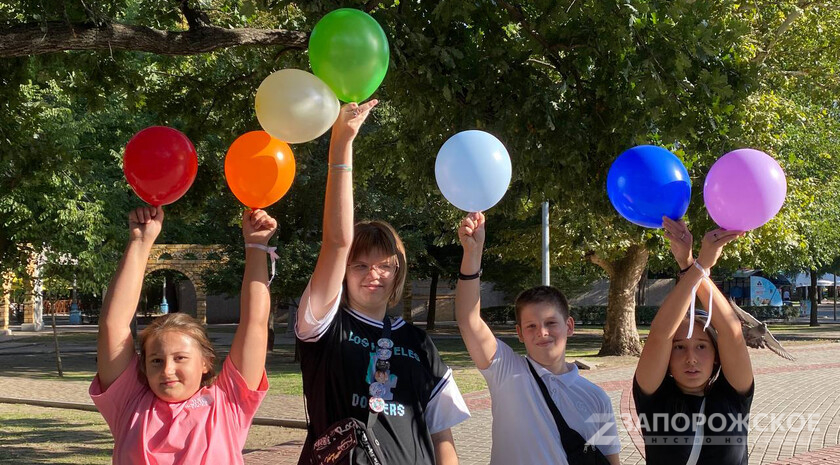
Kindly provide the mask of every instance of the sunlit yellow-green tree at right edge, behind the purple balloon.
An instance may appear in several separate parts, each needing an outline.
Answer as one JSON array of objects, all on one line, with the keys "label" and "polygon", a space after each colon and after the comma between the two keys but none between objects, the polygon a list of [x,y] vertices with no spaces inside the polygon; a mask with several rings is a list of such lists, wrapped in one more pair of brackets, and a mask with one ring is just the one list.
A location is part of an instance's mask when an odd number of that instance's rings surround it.
[{"label": "sunlit yellow-green tree at right edge, behind the purple balloon", "polygon": [[[840,215],[840,14],[826,2],[788,2],[762,10],[769,44],[757,54],[764,78],[748,105],[747,139],[777,155],[788,179],[786,205],[770,225],[741,244],[739,257],[770,271],[809,271],[816,277],[837,258]],[[812,301],[811,324],[818,324]]]}]

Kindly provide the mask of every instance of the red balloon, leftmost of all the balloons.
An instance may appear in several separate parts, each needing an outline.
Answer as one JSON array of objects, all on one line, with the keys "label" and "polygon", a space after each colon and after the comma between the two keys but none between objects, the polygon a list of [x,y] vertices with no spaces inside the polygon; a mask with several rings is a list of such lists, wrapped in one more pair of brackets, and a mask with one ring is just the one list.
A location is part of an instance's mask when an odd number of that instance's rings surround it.
[{"label": "red balloon, leftmost of all the balloons", "polygon": [[166,126],[152,126],[128,141],[123,172],[141,199],[156,207],[169,205],[192,186],[198,172],[198,157],[184,133]]}]

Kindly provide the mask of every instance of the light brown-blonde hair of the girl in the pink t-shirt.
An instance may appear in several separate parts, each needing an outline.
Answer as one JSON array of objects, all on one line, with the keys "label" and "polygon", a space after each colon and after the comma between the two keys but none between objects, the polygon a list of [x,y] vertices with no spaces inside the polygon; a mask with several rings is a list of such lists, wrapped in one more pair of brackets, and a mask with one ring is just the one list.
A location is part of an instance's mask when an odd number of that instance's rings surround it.
[{"label": "light brown-blonde hair of the girl in the pink t-shirt", "polygon": [[207,337],[204,325],[186,313],[170,313],[155,318],[149,326],[140,331],[137,336],[137,342],[140,344],[140,364],[138,368],[143,375],[142,378],[146,379],[146,342],[167,331],[185,334],[198,343],[201,355],[208,367],[207,373],[201,376],[201,386],[213,384],[216,379],[216,349],[213,348],[213,344]]}]

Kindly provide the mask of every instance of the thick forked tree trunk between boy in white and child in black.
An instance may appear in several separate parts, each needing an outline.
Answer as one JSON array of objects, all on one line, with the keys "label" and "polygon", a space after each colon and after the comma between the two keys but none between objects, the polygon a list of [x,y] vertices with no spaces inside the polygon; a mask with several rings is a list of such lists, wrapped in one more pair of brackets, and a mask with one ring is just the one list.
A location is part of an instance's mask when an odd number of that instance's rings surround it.
[{"label": "thick forked tree trunk between boy in white and child in black", "polygon": [[636,286],[645,270],[648,250],[635,244],[620,260],[608,262],[591,254],[589,259],[610,277],[604,341],[598,355],[640,355],[642,343],[636,330]]}]

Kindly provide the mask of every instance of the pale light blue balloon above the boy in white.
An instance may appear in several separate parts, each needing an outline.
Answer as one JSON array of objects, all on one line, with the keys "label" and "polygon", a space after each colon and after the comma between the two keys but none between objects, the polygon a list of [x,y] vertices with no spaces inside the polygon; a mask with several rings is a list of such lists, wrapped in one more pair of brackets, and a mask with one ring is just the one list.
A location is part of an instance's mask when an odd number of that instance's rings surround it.
[{"label": "pale light blue balloon above the boy in white", "polygon": [[438,151],[435,179],[452,205],[467,212],[484,211],[502,200],[510,184],[510,155],[484,131],[463,131]]}]

